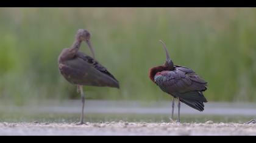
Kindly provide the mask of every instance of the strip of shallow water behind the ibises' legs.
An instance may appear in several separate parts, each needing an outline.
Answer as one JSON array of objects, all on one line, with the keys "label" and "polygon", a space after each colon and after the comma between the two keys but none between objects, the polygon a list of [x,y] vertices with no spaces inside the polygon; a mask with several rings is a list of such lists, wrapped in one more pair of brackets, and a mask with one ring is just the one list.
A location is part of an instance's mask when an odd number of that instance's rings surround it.
[{"label": "strip of shallow water behind the ibises' legs", "polygon": [[[177,118],[177,108],[174,119]],[[0,105],[0,122],[77,122],[80,101],[41,102],[17,107]],[[86,101],[87,122],[170,122],[171,102]],[[205,104],[203,112],[182,104],[181,122],[247,122],[256,117],[256,105],[251,103]]]}]

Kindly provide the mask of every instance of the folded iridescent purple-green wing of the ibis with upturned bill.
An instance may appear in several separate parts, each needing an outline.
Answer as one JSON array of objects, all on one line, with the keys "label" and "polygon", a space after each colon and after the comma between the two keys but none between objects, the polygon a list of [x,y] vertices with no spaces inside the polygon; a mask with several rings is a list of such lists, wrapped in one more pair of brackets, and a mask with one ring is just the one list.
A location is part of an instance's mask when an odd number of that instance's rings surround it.
[{"label": "folded iridescent purple-green wing of the ibis with upturned bill", "polygon": [[171,95],[206,101],[201,92],[207,89],[207,82],[189,68],[176,67],[174,71],[162,71],[155,76],[155,83]]}]

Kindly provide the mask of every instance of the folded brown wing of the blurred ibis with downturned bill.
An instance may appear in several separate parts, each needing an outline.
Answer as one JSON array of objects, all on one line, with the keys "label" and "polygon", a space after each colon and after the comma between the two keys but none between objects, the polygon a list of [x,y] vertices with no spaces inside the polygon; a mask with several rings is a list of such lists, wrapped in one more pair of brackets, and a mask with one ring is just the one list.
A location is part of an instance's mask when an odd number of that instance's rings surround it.
[{"label": "folded brown wing of the blurred ibis with downturned bill", "polygon": [[[108,86],[119,88],[118,81],[98,62],[87,57],[77,56],[59,65],[62,75],[72,84]],[[98,65],[96,65],[96,63]],[[109,75],[110,74],[110,75]]]}]

